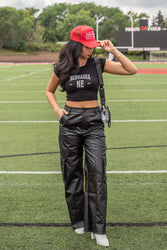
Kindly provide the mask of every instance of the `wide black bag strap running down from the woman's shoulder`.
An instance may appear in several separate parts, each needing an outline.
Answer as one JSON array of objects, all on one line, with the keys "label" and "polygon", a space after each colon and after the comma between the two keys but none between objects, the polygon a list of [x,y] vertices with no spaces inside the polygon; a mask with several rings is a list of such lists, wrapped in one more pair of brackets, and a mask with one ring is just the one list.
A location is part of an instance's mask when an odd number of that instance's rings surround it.
[{"label": "wide black bag strap running down from the woman's shoulder", "polygon": [[104,92],[104,82],[103,82],[103,75],[102,75],[102,70],[101,70],[101,63],[99,58],[94,58],[95,63],[96,63],[96,69],[98,73],[98,78],[99,78],[99,93],[100,93],[100,100],[101,100],[101,107],[105,107],[105,92]]}]

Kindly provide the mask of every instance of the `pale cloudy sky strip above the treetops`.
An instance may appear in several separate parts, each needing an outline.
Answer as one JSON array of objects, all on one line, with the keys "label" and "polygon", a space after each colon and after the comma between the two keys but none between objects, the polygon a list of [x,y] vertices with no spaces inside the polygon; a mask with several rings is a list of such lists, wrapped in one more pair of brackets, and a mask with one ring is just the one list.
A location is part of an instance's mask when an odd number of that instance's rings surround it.
[{"label": "pale cloudy sky strip above the treetops", "polygon": [[83,2],[94,3],[107,7],[118,7],[125,14],[128,11],[140,14],[148,14],[152,19],[161,10],[163,16],[167,18],[167,0],[0,0],[0,7],[9,6],[17,9],[34,7],[42,10],[55,3],[78,4]]}]

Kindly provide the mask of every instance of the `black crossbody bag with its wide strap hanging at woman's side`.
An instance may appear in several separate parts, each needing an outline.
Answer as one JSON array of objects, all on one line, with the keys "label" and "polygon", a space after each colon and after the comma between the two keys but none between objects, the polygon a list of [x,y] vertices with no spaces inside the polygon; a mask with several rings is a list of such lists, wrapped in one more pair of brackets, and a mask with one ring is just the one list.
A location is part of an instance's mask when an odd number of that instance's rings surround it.
[{"label": "black crossbody bag with its wide strap hanging at woman's side", "polygon": [[109,128],[111,127],[111,114],[108,106],[106,106],[105,100],[105,91],[104,91],[104,82],[103,82],[103,75],[101,70],[101,64],[99,58],[94,58],[96,63],[96,68],[98,72],[99,78],[99,93],[100,93],[100,100],[101,100],[101,118],[104,125],[107,125]]}]

